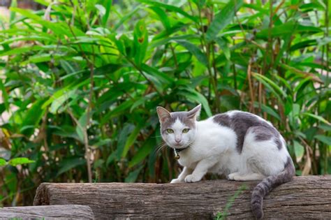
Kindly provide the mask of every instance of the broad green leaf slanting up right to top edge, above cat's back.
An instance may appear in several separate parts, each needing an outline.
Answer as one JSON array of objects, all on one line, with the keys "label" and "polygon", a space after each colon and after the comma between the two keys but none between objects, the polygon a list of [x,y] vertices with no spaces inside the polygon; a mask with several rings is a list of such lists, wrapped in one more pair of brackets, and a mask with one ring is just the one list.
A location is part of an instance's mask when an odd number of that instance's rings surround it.
[{"label": "broad green leaf slanting up right to top edge, above cat's back", "polygon": [[242,0],[229,1],[226,6],[215,15],[214,20],[212,20],[212,23],[207,29],[207,41],[214,41],[217,34],[230,24],[233,17],[235,17],[235,13],[242,7],[243,3],[244,1]]}]

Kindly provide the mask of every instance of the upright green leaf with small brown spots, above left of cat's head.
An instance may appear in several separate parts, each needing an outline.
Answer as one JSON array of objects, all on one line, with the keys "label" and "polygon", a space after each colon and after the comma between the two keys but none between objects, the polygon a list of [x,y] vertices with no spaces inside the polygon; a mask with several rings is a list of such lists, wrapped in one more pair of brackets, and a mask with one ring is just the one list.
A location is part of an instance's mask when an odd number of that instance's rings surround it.
[{"label": "upright green leaf with small brown spots, above left of cat's head", "polygon": [[143,20],[140,20],[137,24],[135,24],[133,38],[135,47],[135,64],[140,66],[145,58],[148,46],[148,33],[146,24]]}]

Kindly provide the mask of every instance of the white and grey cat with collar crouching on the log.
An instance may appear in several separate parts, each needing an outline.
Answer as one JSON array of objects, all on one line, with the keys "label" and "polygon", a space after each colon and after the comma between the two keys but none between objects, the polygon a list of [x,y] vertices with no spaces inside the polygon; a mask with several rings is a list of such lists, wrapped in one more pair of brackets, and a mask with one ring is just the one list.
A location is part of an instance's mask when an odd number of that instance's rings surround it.
[{"label": "white and grey cat with collar crouching on the log", "polygon": [[201,104],[189,112],[157,107],[161,136],[174,149],[182,173],[171,184],[198,182],[206,173],[230,180],[261,180],[251,197],[251,210],[263,217],[263,198],[295,175],[293,161],[279,131],[265,119],[232,110],[198,121]]}]

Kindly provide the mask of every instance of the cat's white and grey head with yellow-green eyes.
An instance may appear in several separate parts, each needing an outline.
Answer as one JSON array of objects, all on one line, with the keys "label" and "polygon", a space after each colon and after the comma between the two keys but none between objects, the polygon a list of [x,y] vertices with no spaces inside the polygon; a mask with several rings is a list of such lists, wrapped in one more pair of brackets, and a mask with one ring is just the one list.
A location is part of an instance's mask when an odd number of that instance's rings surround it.
[{"label": "cat's white and grey head with yellow-green eyes", "polygon": [[201,104],[189,112],[168,112],[165,108],[156,108],[161,123],[161,135],[169,147],[185,148],[195,140],[196,120],[200,110]]}]

